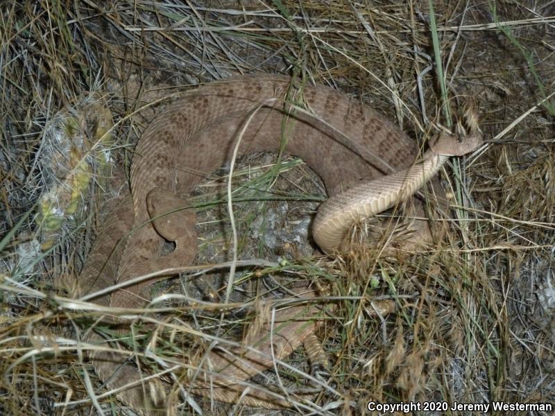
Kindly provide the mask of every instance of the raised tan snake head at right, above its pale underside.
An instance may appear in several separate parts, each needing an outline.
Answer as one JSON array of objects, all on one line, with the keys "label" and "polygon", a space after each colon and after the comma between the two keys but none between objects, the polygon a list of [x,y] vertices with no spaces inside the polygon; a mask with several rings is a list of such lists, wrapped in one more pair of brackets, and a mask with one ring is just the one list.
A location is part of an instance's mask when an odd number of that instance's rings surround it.
[{"label": "raised tan snake head at right, above its pale underside", "polygon": [[468,110],[465,121],[465,126],[460,122],[456,124],[455,134],[439,132],[435,135],[429,142],[430,149],[440,155],[463,156],[484,144],[475,112]]}]

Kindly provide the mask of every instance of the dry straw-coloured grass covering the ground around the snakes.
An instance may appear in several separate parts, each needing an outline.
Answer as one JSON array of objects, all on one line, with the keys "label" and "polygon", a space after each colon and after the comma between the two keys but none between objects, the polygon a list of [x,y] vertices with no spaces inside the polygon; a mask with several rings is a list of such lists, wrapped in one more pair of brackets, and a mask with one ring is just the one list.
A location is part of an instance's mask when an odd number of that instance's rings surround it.
[{"label": "dry straw-coloured grass covering the ground around the snakes", "polygon": [[[282,182],[273,188],[268,184],[276,168],[268,172],[274,164],[266,156],[257,162],[264,168],[252,167],[252,159],[237,166],[237,177],[248,173],[251,181],[240,194],[250,202],[235,205],[236,218],[244,219],[239,246],[260,260],[253,261],[259,268],[238,275],[239,290],[231,299],[237,303],[230,304],[225,332],[242,331],[248,315],[241,311],[256,304],[246,295],[255,277],[318,277],[327,300],[336,304],[321,329],[329,383],[309,404],[327,406],[321,413],[359,414],[370,400],[555,402],[549,98],[555,7],[548,1],[442,1],[434,2],[434,22],[426,1],[366,3],[2,3],[0,413],[85,414],[90,401],[71,403],[89,397],[106,414],[110,408],[123,411],[113,396],[99,396],[104,390],[77,343],[99,310],[68,300],[101,223],[97,207],[105,200],[110,205],[124,186],[131,155],[126,150],[159,101],[189,85],[250,72],[293,74],[357,94],[419,143],[429,123],[450,125],[472,104],[489,142],[480,153],[447,166],[443,178],[453,209],[438,220],[433,249],[392,255],[363,242],[333,261],[307,257],[306,230],[296,227],[314,205],[291,201],[322,198],[321,184],[302,163],[282,162]],[[91,106],[91,100],[103,104]],[[105,112],[99,116],[106,107],[112,128]],[[99,154],[111,157],[110,177]],[[266,173],[251,174],[257,170]],[[204,187],[212,189],[212,182]],[[45,193],[53,195],[46,201],[60,205],[46,204]],[[225,205],[212,204],[215,211],[202,214],[203,223],[217,225],[200,226],[200,247],[205,261],[221,262],[226,258],[214,244],[228,246],[230,232],[216,215]],[[260,212],[264,218],[284,217],[268,224],[259,220]],[[283,228],[293,230],[292,236],[268,250],[264,239]],[[48,250],[41,251],[41,244]],[[179,336],[174,344],[163,336],[157,341],[158,358],[182,363],[187,351],[198,352],[200,337],[188,329],[212,327],[219,318],[222,279],[228,279],[225,272],[200,280],[189,275],[174,285],[185,288],[180,302],[159,306],[164,319],[177,308],[171,322]],[[198,300],[202,296],[211,302]],[[397,312],[375,318],[373,301],[381,299],[395,300]],[[137,340],[130,347],[140,356],[147,343]],[[288,363],[309,372],[302,351]],[[311,378],[291,369],[280,374],[282,381],[303,387]],[[199,402],[210,413],[209,401]],[[192,406],[182,409],[194,413]],[[218,405],[214,411],[250,410]]]}]

